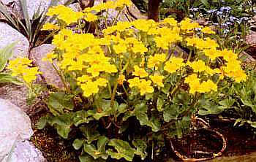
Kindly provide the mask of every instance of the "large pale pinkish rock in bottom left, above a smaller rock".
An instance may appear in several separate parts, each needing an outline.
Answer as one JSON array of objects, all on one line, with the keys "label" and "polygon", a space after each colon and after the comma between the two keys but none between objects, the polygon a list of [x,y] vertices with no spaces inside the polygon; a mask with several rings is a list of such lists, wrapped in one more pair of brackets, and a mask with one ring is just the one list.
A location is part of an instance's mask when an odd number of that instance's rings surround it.
[{"label": "large pale pinkish rock in bottom left, above a smaller rock", "polygon": [[6,159],[21,139],[32,134],[31,121],[21,109],[10,101],[0,99],[0,161]]}]

